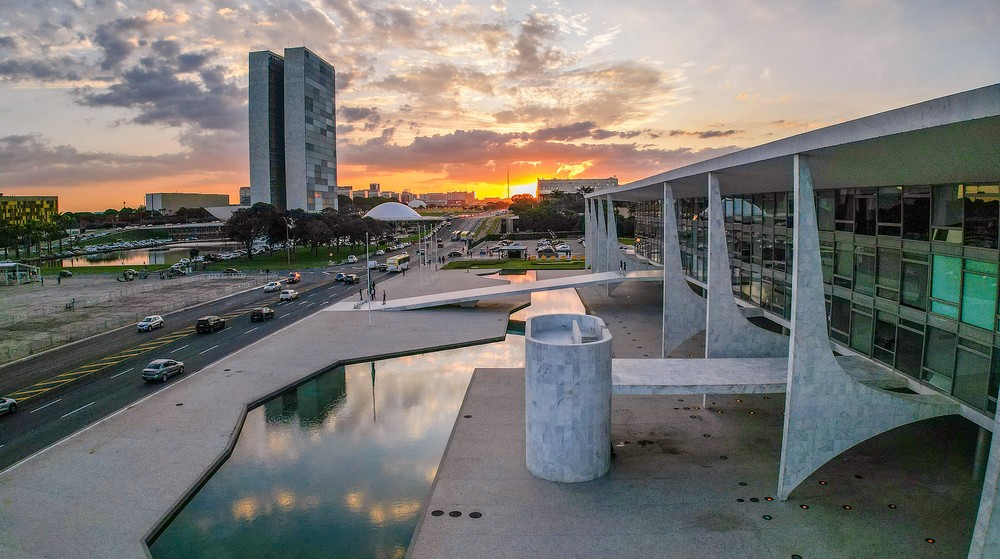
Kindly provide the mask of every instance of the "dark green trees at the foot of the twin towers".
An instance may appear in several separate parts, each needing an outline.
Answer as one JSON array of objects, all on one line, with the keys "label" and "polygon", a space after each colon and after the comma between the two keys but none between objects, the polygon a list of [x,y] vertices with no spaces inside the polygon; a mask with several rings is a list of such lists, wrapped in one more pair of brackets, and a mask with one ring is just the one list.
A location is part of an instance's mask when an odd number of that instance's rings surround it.
[{"label": "dark green trees at the foot of the twin towers", "polygon": [[269,244],[307,244],[314,255],[321,246],[340,247],[344,242],[360,245],[367,233],[372,240],[381,239],[389,232],[386,223],[362,218],[357,214],[340,213],[325,209],[319,213],[305,210],[283,211],[270,204],[257,203],[245,210],[237,210],[223,227],[223,234],[241,243],[252,260],[252,247],[257,239],[267,239]]}]

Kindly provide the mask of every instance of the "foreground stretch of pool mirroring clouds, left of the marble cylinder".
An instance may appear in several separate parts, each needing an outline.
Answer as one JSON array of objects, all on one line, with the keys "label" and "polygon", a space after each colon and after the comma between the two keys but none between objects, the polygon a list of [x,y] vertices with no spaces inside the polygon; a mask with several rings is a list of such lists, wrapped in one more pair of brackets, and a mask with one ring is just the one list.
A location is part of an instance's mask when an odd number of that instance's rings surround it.
[{"label": "foreground stretch of pool mirroring clouds, left of the marble cylinder", "polygon": [[475,367],[524,339],[351,365],[247,414],[233,455],[152,546],[156,559],[403,557]]}]

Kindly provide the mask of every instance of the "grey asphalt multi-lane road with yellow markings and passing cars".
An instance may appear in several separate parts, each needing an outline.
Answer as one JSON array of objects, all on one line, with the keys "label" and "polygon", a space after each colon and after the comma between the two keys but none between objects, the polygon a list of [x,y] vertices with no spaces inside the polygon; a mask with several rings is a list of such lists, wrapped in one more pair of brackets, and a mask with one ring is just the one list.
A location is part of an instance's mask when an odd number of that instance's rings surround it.
[{"label": "grey asphalt multi-lane road with yellow markings and passing cars", "polygon": [[[445,244],[444,252],[437,250],[441,254],[460,246],[448,241],[446,231],[438,236]],[[411,266],[420,265],[416,248],[412,245],[409,249],[414,255]],[[434,254],[434,245],[430,254]],[[363,268],[361,262],[322,271],[306,270],[302,281],[282,286],[298,291],[297,300],[279,302],[278,293],[252,289],[166,315],[165,327],[152,332],[115,330],[50,351],[17,371],[5,371],[7,381],[17,375],[20,388],[11,391],[19,400],[17,413],[0,416],[0,471],[184,376],[171,377],[165,384],[147,384],[141,371],[153,359],[182,361],[185,375],[190,375],[329,304],[357,298],[364,283],[343,284],[335,281],[335,274],[367,273]],[[372,270],[372,281],[378,285],[387,275]],[[260,306],[274,309],[275,317],[250,322],[250,310]],[[226,319],[226,328],[210,334],[196,333],[197,319],[213,314]]]}]

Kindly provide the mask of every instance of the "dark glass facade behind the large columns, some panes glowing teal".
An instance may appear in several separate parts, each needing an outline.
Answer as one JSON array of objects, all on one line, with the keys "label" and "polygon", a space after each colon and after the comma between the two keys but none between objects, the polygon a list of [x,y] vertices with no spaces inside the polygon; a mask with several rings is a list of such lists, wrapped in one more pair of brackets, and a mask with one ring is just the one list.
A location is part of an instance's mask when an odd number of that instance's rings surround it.
[{"label": "dark glass facade behind the large columns, some panes glowing teal", "polygon": [[[705,279],[705,199],[678,201],[684,268]],[[791,313],[792,196],[723,201],[733,293]],[[993,415],[1000,388],[1000,184],[816,193],[830,337]]]}]

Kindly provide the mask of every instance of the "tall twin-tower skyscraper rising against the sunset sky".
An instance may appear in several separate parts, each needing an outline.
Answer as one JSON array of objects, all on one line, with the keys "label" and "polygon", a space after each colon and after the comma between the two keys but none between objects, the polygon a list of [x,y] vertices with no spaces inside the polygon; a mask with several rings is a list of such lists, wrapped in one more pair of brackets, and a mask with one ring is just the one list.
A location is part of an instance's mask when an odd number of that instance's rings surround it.
[{"label": "tall twin-tower skyscraper rising against the sunset sky", "polygon": [[250,203],[337,208],[333,66],[305,47],[250,53]]}]

